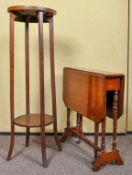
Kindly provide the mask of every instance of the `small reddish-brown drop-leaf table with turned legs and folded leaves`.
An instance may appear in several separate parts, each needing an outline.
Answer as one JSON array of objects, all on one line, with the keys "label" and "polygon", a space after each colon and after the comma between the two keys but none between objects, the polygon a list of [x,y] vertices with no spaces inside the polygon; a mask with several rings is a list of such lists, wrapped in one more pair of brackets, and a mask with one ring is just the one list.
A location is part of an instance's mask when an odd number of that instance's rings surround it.
[{"label": "small reddish-brown drop-leaf table with turned legs and folded leaves", "polygon": [[[122,165],[116,148],[117,120],[123,114],[124,75],[92,70],[64,68],[63,100],[67,107],[67,127],[61,141],[69,136],[78,136],[94,148],[93,170],[102,165],[116,163]],[[70,127],[70,110],[77,112],[77,126]],[[82,131],[82,118],[95,123],[94,143]],[[113,119],[112,150],[105,149],[106,116]],[[98,145],[99,124],[101,124],[101,146]],[[100,152],[100,154],[98,154]]]}]

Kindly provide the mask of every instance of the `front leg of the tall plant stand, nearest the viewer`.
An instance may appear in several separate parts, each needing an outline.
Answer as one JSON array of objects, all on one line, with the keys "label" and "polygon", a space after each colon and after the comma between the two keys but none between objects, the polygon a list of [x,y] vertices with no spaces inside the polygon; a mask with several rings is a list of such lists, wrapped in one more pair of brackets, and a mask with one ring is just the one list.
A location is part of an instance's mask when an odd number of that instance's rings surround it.
[{"label": "front leg of the tall plant stand, nearest the viewer", "polygon": [[45,141],[45,99],[44,99],[44,47],[43,47],[43,12],[38,12],[39,20],[39,81],[40,81],[40,121],[41,121],[41,151],[43,166],[47,167]]}]

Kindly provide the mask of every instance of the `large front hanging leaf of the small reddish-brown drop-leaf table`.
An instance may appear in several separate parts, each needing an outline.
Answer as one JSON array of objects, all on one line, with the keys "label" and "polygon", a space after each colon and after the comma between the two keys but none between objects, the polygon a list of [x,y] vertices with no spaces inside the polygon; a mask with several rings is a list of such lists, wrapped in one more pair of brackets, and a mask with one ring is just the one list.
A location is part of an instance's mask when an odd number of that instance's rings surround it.
[{"label": "large front hanging leaf of the small reddish-brown drop-leaf table", "polygon": [[[65,68],[63,76],[63,100],[65,105],[79,114],[90,116],[93,121],[101,121],[104,116],[104,110],[102,109],[105,105],[104,75],[95,74],[92,76],[87,72]],[[88,90],[89,84],[91,90]]]}]

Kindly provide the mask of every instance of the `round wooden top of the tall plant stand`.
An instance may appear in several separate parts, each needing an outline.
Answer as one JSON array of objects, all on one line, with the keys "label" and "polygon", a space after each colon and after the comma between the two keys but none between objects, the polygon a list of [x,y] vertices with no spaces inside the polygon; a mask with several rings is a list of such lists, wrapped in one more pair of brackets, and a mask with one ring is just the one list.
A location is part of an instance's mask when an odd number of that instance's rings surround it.
[{"label": "round wooden top of the tall plant stand", "polygon": [[[43,12],[44,22],[56,15],[56,10],[47,7],[38,6],[11,6],[8,7],[8,12],[16,15],[15,21],[36,23],[38,22],[38,12]],[[28,18],[27,18],[28,17]]]}]

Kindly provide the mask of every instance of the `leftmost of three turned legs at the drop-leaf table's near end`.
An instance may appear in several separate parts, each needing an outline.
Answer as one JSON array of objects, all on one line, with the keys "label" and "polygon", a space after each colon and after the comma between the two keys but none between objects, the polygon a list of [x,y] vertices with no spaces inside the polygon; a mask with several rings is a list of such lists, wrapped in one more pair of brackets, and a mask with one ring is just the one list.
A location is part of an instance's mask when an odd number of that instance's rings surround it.
[{"label": "leftmost of three turned legs at the drop-leaf table's near end", "polygon": [[[95,132],[95,137],[94,137],[94,144],[95,144],[95,148],[98,147],[98,135],[99,135],[99,123],[95,122],[95,126],[94,126],[94,132]],[[94,151],[94,158],[96,159],[98,156],[98,151],[95,149]]]}]

